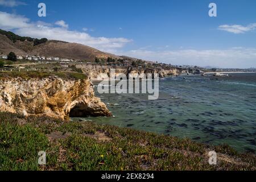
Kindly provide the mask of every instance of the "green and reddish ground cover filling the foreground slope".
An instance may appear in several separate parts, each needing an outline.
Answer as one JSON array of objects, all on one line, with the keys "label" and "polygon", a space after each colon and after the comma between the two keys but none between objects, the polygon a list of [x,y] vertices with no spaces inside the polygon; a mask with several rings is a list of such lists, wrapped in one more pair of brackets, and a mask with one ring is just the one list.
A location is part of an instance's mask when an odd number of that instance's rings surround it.
[{"label": "green and reddish ground cover filling the foreground slope", "polygon": [[[216,150],[217,165],[208,164]],[[38,152],[47,164],[39,166]],[[255,170],[253,154],[134,129],[0,113],[0,170]]]}]

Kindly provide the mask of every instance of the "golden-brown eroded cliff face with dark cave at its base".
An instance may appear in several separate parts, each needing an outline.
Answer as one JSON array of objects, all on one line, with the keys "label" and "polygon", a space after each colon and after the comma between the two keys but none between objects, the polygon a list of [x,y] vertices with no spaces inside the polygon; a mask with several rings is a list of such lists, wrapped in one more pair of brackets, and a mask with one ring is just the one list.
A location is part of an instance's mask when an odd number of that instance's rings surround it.
[{"label": "golden-brown eroded cliff face with dark cave at its base", "polygon": [[0,79],[0,111],[66,120],[89,115],[112,116],[100,98],[94,96],[89,80],[63,80],[58,77]]}]

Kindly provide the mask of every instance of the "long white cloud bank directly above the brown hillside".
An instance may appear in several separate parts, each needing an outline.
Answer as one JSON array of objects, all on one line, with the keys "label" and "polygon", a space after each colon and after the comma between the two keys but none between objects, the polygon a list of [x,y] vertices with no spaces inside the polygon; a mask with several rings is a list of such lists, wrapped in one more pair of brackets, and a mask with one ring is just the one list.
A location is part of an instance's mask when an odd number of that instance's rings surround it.
[{"label": "long white cloud bank directly above the brown hillside", "polygon": [[86,32],[68,30],[68,25],[63,20],[57,21],[56,23],[60,27],[55,27],[45,22],[34,23],[24,16],[0,11],[0,28],[14,31],[16,34],[22,36],[81,43],[86,46],[98,48],[101,51],[113,51],[117,48],[122,48],[125,44],[132,41],[126,38],[93,37]]}]

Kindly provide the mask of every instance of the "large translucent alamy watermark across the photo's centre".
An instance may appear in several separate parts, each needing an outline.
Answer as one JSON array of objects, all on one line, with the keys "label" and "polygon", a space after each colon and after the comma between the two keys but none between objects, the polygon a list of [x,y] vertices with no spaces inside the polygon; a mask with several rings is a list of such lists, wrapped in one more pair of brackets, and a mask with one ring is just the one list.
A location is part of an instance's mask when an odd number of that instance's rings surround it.
[{"label": "large translucent alamy watermark across the photo's centre", "polygon": [[98,93],[118,94],[148,94],[148,100],[157,100],[159,97],[158,73],[115,73],[110,69],[110,74],[101,73],[98,80],[102,80],[97,86]]}]

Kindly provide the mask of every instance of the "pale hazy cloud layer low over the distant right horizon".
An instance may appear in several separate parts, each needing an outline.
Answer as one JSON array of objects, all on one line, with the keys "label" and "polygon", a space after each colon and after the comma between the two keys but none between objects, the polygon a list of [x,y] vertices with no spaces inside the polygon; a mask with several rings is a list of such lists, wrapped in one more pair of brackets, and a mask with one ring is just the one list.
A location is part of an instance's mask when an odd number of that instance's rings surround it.
[{"label": "pale hazy cloud layer low over the distant right horizon", "polygon": [[144,60],[158,61],[174,65],[200,65],[222,68],[256,67],[256,48],[230,49],[177,49],[168,51],[148,51],[137,49],[127,52],[114,52],[117,55],[127,55]]}]

